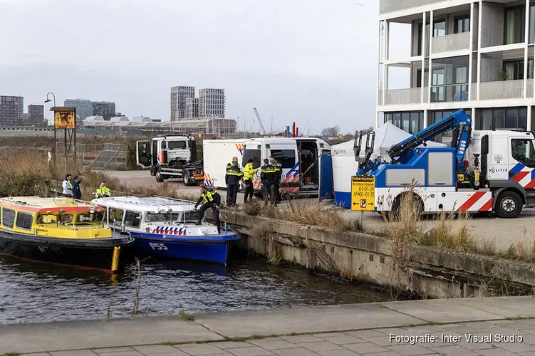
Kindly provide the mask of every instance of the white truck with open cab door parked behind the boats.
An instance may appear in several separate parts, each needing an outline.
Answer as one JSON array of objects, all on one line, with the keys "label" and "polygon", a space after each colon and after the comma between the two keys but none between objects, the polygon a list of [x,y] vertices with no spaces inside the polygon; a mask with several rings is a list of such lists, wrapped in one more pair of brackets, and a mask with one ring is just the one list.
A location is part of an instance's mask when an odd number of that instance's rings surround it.
[{"label": "white truck with open cab door parked behind the boats", "polygon": [[[202,164],[197,161],[197,142],[192,136],[158,136],[150,141],[137,141],[136,162],[140,167],[150,168],[150,174],[157,182],[181,177],[186,185],[192,185],[196,177],[202,177]],[[192,165],[199,167],[188,169]],[[201,172],[197,172],[199,169]]]}]

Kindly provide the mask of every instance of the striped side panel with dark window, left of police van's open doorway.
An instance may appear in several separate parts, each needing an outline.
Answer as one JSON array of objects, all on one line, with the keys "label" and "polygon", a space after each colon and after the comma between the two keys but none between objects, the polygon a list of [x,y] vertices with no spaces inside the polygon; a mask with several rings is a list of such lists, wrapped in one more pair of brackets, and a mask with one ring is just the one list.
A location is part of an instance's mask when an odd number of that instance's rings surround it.
[{"label": "striped side panel with dark window, left of police van's open doorway", "polygon": [[270,145],[269,155],[273,156],[276,162],[281,164],[281,194],[297,194],[301,191],[301,175],[299,171],[299,160],[297,145]]}]

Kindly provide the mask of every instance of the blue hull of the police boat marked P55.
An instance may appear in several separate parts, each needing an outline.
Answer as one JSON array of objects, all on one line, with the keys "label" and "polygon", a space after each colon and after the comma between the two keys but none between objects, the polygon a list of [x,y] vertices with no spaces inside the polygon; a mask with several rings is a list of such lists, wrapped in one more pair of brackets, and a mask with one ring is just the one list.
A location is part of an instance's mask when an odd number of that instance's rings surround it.
[{"label": "blue hull of the police boat marked P55", "polygon": [[183,258],[227,264],[230,249],[237,243],[237,234],[219,236],[168,236],[132,233],[133,253],[138,256]]}]

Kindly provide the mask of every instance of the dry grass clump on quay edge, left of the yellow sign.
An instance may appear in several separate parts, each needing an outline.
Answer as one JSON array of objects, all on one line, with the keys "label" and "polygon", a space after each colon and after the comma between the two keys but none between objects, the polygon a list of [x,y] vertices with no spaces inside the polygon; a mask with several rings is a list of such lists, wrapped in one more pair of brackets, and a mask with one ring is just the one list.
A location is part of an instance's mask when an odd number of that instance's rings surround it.
[{"label": "dry grass clump on quay edge, left of the yellow sign", "polygon": [[336,231],[363,231],[359,219],[346,219],[341,211],[321,203],[289,200],[289,207],[266,206],[261,215],[278,220],[294,221],[298,224],[320,226]]}]

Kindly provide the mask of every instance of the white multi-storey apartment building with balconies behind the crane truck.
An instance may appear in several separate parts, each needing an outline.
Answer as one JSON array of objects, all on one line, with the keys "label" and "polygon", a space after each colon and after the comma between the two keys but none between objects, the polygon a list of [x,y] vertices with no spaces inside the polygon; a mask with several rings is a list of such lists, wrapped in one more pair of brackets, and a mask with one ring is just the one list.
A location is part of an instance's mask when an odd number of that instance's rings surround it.
[{"label": "white multi-storey apartment building with balconies behind the crane truck", "polygon": [[[415,133],[464,109],[475,130],[535,129],[532,0],[379,1],[376,126]],[[411,28],[406,55],[390,56],[395,23]],[[410,73],[401,88],[397,68]]]}]

